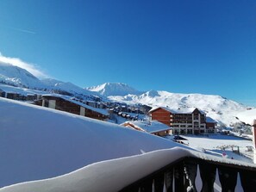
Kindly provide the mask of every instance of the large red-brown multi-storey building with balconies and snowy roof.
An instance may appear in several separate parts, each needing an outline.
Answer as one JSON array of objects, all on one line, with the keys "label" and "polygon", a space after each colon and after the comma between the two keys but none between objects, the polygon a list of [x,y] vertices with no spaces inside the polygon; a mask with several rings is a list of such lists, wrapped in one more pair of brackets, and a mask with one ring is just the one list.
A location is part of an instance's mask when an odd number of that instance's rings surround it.
[{"label": "large red-brown multi-storey building with balconies and snowy roof", "polygon": [[215,127],[207,127],[206,115],[198,108],[172,110],[159,107],[151,109],[149,115],[151,120],[172,127],[173,134],[215,133]]}]

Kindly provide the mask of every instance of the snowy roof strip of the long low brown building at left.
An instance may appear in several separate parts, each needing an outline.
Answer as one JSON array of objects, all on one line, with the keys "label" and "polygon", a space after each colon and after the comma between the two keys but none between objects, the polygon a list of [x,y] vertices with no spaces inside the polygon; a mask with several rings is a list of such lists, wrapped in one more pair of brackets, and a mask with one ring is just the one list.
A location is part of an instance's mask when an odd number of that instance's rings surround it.
[{"label": "snowy roof strip of the long low brown building at left", "polygon": [[59,98],[64,99],[64,100],[66,100],[68,102],[75,103],[75,104],[77,104],[77,105],[79,105],[81,107],[91,109],[92,111],[96,111],[97,113],[100,113],[102,115],[109,115],[109,112],[106,109],[103,109],[103,108],[93,108],[93,107],[91,107],[89,105],[84,104],[83,102],[78,102],[76,100],[73,100],[72,97],[70,97],[70,96],[63,96],[63,95],[58,95],[58,94],[46,94],[46,95],[43,95],[43,96],[59,97]]}]

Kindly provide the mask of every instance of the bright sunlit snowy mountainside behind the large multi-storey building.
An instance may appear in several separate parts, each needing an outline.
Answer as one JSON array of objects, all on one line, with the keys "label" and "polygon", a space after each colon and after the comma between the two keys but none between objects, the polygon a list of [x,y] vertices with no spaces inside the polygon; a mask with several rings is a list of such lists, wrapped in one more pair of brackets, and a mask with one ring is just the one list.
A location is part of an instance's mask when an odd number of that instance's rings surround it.
[{"label": "bright sunlit snowy mountainside behind the large multi-storey building", "polygon": [[128,104],[141,103],[151,107],[168,107],[173,110],[196,107],[225,127],[232,126],[234,122],[238,121],[235,116],[247,110],[246,106],[222,96],[178,94],[157,90],[150,90],[139,96],[109,96],[108,98],[111,101],[127,102]]}]

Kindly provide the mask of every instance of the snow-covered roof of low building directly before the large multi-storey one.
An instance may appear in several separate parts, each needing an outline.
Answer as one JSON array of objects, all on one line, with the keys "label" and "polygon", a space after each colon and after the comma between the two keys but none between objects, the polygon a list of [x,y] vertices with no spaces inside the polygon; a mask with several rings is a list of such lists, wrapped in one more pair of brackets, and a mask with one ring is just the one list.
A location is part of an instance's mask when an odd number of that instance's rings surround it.
[{"label": "snow-covered roof of low building directly before the large multi-storey one", "polygon": [[157,133],[172,129],[172,127],[166,126],[159,121],[126,121],[123,124],[132,124],[135,127],[143,129],[147,133]]}]

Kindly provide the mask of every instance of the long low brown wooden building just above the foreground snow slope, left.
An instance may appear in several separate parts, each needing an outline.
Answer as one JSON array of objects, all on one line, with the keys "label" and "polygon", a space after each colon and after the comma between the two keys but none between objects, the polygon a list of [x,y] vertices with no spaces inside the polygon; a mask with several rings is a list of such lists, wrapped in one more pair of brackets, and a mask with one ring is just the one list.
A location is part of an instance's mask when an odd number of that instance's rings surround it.
[{"label": "long low brown wooden building just above the foreground snow slope, left", "polygon": [[36,101],[35,104],[102,121],[108,118],[108,112],[105,109],[92,108],[82,102],[62,96],[42,96],[41,100]]}]

